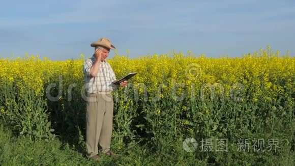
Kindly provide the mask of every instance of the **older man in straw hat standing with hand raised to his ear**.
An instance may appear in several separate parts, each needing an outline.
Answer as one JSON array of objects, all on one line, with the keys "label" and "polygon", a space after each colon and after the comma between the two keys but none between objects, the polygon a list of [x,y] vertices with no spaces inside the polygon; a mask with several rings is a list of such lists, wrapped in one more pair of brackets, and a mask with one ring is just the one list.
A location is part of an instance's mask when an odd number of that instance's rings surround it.
[{"label": "older man in straw hat standing with hand raised to his ear", "polygon": [[[115,47],[107,38],[100,38],[91,46],[95,47],[94,54],[83,64],[87,97],[92,99],[86,103],[86,147],[88,157],[98,161],[98,144],[100,152],[109,156],[113,154],[110,151],[113,121],[111,92],[117,86],[111,84],[116,77],[105,59],[110,49]],[[127,81],[121,82],[120,86],[126,87]]]}]

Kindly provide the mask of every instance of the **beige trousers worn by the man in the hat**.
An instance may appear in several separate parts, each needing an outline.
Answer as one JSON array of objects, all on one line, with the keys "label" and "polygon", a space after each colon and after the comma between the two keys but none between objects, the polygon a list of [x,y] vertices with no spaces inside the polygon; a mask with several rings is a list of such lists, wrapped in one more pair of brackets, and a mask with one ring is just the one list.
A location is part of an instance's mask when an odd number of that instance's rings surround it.
[{"label": "beige trousers worn by the man in the hat", "polygon": [[111,94],[88,94],[86,103],[86,147],[88,157],[110,149],[113,122]]}]

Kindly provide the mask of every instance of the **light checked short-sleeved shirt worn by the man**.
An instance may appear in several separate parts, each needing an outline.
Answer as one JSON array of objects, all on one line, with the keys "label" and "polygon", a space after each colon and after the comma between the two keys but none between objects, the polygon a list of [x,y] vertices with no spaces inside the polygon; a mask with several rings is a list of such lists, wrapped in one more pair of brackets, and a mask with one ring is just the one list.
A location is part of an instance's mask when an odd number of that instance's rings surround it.
[{"label": "light checked short-sleeved shirt worn by the man", "polygon": [[96,58],[93,55],[90,59],[86,59],[83,64],[86,92],[97,93],[116,90],[117,86],[111,84],[111,82],[116,80],[116,76],[110,64],[107,61],[100,62],[96,77],[90,76],[90,68],[93,66],[95,61]]}]

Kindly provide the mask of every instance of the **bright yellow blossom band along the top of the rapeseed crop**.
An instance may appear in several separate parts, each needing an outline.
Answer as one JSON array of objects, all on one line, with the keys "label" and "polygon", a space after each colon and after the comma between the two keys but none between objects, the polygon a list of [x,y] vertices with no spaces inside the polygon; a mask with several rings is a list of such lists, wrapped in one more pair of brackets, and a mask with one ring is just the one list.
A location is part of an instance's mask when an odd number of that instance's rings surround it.
[{"label": "bright yellow blossom band along the top of the rapeseed crop", "polygon": [[[83,83],[84,59],[83,56],[80,60],[61,62],[41,60],[38,56],[1,59],[0,77],[2,81],[14,82],[20,89],[30,87],[40,93],[46,85],[58,82],[58,77],[62,76],[63,86],[67,89],[70,84]],[[286,95],[284,88],[294,87],[294,61],[292,57],[279,56],[279,52],[268,53],[267,50],[246,54],[243,58],[215,59],[178,53],[137,59],[116,55],[108,60],[117,78],[137,72],[130,82],[135,87],[144,84],[148,92],[157,91],[161,84],[181,84],[179,91],[191,91],[192,85],[195,90],[200,90],[205,84],[215,84],[223,88],[225,96],[229,96],[231,89],[242,85],[244,90],[251,91],[254,102],[258,98],[262,101],[276,100],[276,95]],[[285,87],[281,86],[282,83]],[[263,91],[270,94],[262,95]]]}]

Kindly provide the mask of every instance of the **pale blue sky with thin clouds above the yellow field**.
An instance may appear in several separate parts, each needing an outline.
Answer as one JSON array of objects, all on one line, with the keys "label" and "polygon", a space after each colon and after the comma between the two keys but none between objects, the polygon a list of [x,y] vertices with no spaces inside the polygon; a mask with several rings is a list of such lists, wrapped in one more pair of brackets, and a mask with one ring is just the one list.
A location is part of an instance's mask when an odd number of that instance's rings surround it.
[{"label": "pale blue sky with thin clouds above the yellow field", "polygon": [[[0,6],[0,55],[39,54],[51,60],[93,53],[108,37],[120,55],[258,51],[268,44],[295,54],[295,1],[5,1]],[[114,52],[110,53],[110,58]]]}]

